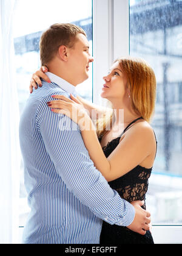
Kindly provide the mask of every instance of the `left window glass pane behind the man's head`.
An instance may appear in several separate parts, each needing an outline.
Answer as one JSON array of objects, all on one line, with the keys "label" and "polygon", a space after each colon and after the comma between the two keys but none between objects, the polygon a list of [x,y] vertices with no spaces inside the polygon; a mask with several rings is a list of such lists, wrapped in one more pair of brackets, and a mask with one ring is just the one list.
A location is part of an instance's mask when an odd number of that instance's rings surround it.
[{"label": "left window glass pane behind the man's head", "polygon": [[[23,22],[22,22],[23,21]],[[19,110],[24,108],[29,98],[29,85],[32,74],[40,68],[39,39],[42,32],[54,23],[73,23],[87,33],[92,54],[92,0],[17,0],[14,13],[14,42],[16,74],[18,82]],[[92,101],[92,65],[90,78],[76,87],[79,96]],[[27,199],[24,188],[23,164],[21,165],[21,221],[24,225],[24,213],[27,213]]]}]

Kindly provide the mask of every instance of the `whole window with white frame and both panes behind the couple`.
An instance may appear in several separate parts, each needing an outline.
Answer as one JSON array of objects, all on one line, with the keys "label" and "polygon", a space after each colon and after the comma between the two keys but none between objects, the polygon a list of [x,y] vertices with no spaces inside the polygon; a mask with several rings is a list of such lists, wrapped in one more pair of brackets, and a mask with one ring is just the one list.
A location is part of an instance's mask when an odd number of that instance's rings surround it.
[{"label": "whole window with white frame and both panes behind the couple", "polygon": [[[92,0],[79,0],[79,6],[74,0],[16,2],[14,35],[20,112],[29,97],[30,78],[40,66],[39,37],[50,24],[69,22],[83,27],[90,41],[90,54],[93,39],[93,76],[91,70],[90,79],[76,90],[90,101],[93,94],[96,104],[103,103],[99,97],[102,77],[113,60],[130,54],[150,63],[157,76],[157,104],[152,127],[157,135],[158,152],[146,204],[152,214],[152,224],[177,224],[181,232],[182,1],[93,0],[93,19]],[[25,208],[23,166],[21,171],[20,226],[24,226],[24,213],[28,208]],[[172,242],[175,231],[174,242],[181,239],[178,230],[174,228],[169,232],[168,227],[164,227],[162,234],[171,235],[166,242]]]}]

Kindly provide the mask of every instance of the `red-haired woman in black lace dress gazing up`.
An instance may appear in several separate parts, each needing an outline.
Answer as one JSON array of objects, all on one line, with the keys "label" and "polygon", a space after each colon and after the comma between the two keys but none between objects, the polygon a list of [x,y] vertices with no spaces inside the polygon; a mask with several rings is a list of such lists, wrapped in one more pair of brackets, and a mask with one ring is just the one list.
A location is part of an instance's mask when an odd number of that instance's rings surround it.
[{"label": "red-haired woman in black lace dress gazing up", "polygon": [[[39,83],[38,79],[33,76],[34,82]],[[53,96],[56,100],[48,102],[48,106],[52,112],[67,115],[78,123],[90,158],[110,187],[129,202],[143,201],[157,152],[155,133],[149,124],[155,108],[155,74],[144,60],[128,57],[116,60],[103,79],[101,97],[112,103],[111,114],[73,96],[71,99]],[[122,120],[121,109],[124,110]],[[104,113],[96,121],[97,130],[90,118],[92,110]],[[72,115],[76,112],[78,115]],[[143,236],[126,227],[103,222],[100,243],[152,244],[153,238],[150,231]]]}]

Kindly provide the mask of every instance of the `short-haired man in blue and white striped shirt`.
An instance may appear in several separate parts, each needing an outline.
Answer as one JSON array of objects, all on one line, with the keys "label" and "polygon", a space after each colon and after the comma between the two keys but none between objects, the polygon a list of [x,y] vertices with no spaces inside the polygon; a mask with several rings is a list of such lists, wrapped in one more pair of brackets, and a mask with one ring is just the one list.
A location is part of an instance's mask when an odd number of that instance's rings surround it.
[{"label": "short-haired man in blue and white striped shirt", "polygon": [[[150,214],[112,190],[90,160],[81,131],[47,107],[52,96],[70,93],[88,78],[89,43],[83,29],[54,24],[41,37],[41,64],[50,83],[34,91],[19,127],[25,185],[31,212],[24,243],[99,243],[102,220],[144,234]],[[143,230],[144,229],[144,230]]]}]

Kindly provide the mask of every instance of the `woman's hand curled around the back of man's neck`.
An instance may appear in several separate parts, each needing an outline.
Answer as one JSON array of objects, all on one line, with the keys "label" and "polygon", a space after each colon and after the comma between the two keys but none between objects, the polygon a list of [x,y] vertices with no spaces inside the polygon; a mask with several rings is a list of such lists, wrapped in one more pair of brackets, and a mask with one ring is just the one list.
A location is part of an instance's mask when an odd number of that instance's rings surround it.
[{"label": "woman's hand curled around the back of man's neck", "polygon": [[41,87],[42,86],[42,82],[41,79],[44,79],[45,81],[47,81],[48,83],[50,83],[50,79],[48,76],[46,76],[46,74],[44,74],[45,72],[48,71],[48,68],[46,66],[42,66],[40,70],[36,71],[33,75],[32,75],[32,79],[30,80],[30,93],[33,92],[33,88],[37,89],[38,86]]}]

